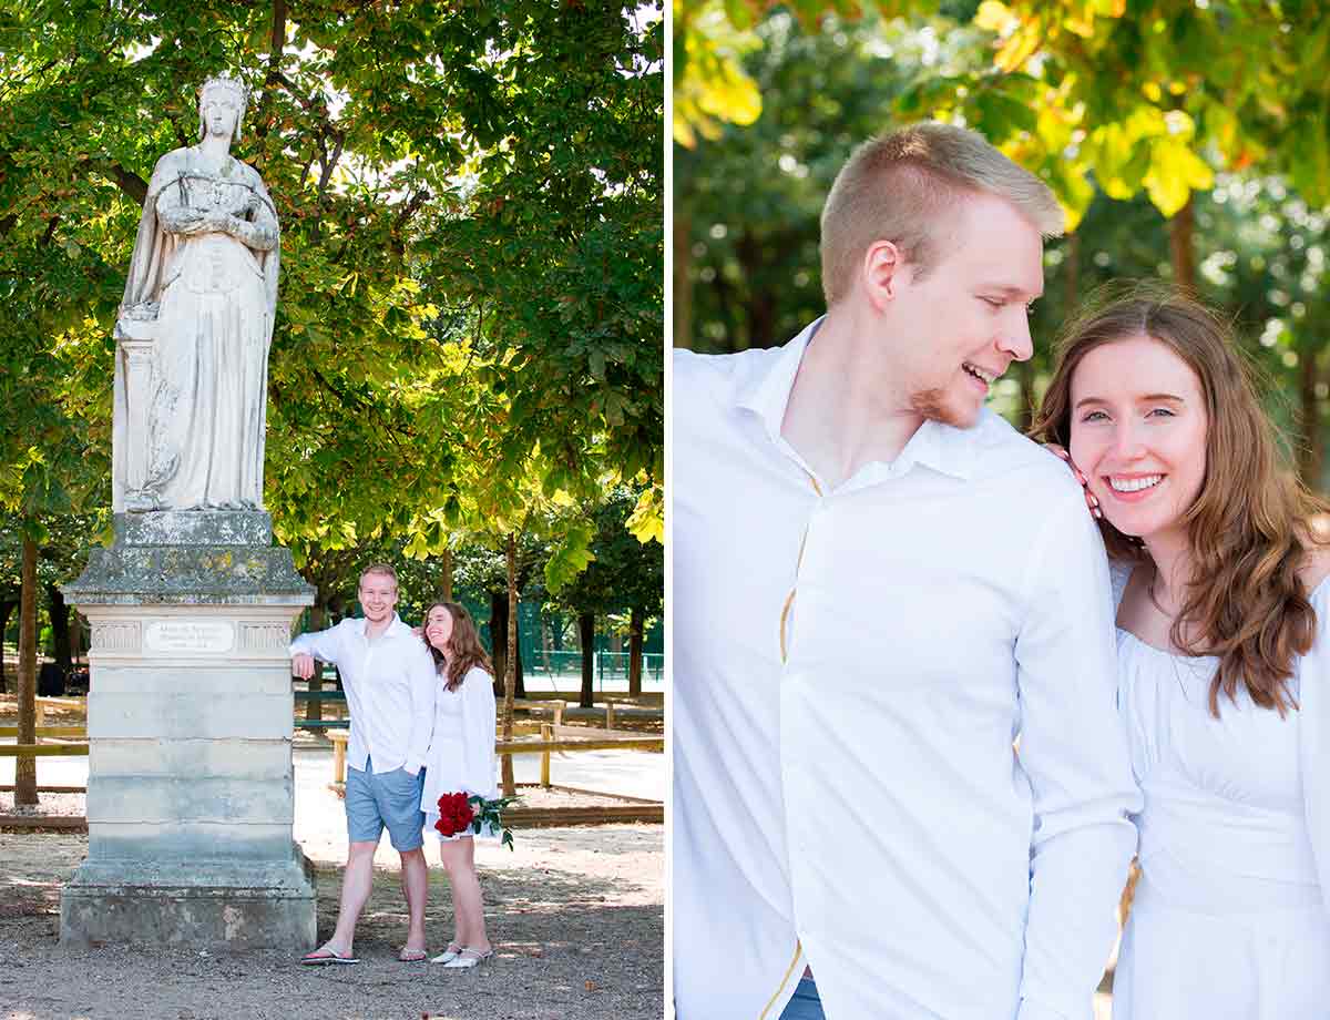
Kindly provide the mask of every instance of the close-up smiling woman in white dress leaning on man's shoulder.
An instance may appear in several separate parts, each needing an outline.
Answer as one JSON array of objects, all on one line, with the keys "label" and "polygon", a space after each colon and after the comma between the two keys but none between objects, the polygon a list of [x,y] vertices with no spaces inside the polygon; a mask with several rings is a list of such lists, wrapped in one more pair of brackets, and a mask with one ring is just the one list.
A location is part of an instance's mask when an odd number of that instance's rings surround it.
[{"label": "close-up smiling woman in white dress leaning on man's shoulder", "polygon": [[1330,1016],[1326,507],[1216,315],[1136,287],[1063,335],[1036,438],[1097,501],[1144,793],[1115,1020]]}]

